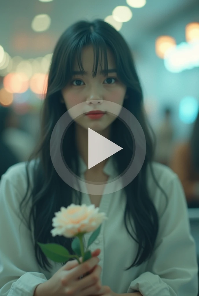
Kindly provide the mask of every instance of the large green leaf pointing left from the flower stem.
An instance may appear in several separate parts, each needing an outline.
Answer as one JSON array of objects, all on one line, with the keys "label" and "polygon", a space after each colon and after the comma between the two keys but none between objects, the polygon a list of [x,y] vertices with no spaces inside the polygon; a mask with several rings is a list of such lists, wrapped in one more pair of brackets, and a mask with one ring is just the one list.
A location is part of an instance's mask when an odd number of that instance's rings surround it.
[{"label": "large green leaf pointing left from the flower stem", "polygon": [[68,250],[59,244],[41,244],[37,243],[42,252],[54,262],[66,262],[70,259]]}]

